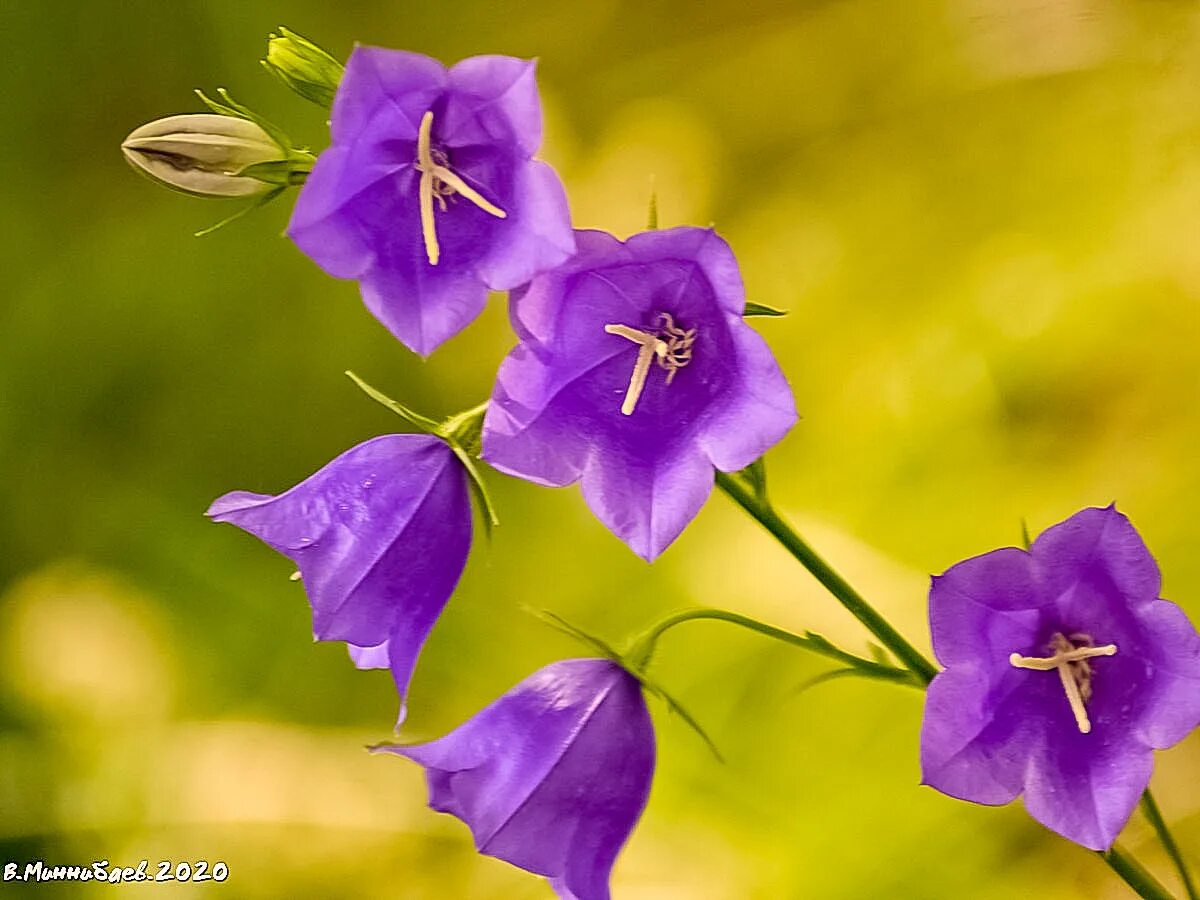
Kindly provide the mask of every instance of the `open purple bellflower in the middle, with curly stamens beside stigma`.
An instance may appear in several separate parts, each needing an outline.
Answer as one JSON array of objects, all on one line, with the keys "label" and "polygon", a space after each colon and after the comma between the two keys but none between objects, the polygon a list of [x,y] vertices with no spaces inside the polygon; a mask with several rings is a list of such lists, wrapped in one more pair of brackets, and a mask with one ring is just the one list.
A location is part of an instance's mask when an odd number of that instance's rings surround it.
[{"label": "open purple bellflower in the middle, with curly stamens beside stigma", "polygon": [[653,560],[703,506],[714,467],[757,460],[796,406],[715,232],[576,240],[570,262],[512,294],[521,343],[497,377],[484,458],[541,485],[582,480],[600,521]]}]

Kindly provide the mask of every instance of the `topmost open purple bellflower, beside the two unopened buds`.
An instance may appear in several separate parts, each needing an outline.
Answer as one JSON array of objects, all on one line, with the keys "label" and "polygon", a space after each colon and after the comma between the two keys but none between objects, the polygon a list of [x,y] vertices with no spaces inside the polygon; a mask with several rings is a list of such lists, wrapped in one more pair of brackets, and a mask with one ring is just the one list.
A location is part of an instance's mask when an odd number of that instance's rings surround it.
[{"label": "topmost open purple bellflower, beside the two unopened buds", "polygon": [[446,70],[358,47],[330,120],[332,145],[296,199],[288,236],[426,355],[509,290],[575,251],[566,196],[533,158],[534,62],[472,56]]}]

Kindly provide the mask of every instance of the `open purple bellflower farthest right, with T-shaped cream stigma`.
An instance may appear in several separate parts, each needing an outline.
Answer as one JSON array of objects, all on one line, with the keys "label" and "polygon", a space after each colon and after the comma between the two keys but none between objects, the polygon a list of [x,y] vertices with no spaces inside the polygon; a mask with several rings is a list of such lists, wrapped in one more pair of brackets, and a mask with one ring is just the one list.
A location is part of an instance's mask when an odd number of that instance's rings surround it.
[{"label": "open purple bellflower farthest right, with T-shaped cream stigma", "polygon": [[1200,635],[1160,600],[1154,558],[1112,506],[934,578],[946,671],[929,688],[924,781],[1030,815],[1092,850],[1112,845],[1153,750],[1200,725]]}]

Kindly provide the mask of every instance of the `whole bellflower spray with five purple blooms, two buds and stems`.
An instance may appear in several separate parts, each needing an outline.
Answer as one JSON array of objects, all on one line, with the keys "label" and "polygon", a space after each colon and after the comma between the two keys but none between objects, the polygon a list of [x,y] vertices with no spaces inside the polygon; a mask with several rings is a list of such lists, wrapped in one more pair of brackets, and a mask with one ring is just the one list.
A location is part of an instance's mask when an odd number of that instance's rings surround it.
[{"label": "whole bellflower spray with five purple blooms, two buds and stems", "polygon": [[[490,292],[509,292],[516,346],[485,406],[434,422],[377,397],[420,433],[371,438],[282,493],[238,491],[208,511],[292,560],[314,637],[346,643],[360,668],[389,670],[403,722],[421,648],[468,562],[472,497],[491,515],[476,460],[536,485],[578,482],[596,518],[653,562],[715,481],[742,473],[761,487],[761,473],[746,473],[797,410],[746,324],[738,263],[715,230],[619,240],[572,229],[563,185],[536,158],[533,61],[473,56],[448,68],[358,47],[343,67],[284,29],[264,62],[331,103],[331,144],[318,156],[222,94],[208,101],[212,115],[136,131],[130,161],[206,196],[302,185],[288,236],[329,275],[356,281],[370,312],[421,355],[466,328]],[[743,505],[778,535],[785,526],[755,491]],[[811,632],[707,617],[872,677],[932,678],[920,766],[946,794],[1024,796],[1037,821],[1108,850],[1147,788],[1153,751],[1200,725],[1200,635],[1159,598],[1154,558],[1112,506],[935,577],[936,677],[798,536],[784,542],[904,667]],[[588,638],[599,656],[541,668],[449,734],[373,750],[424,767],[430,805],[462,820],[481,853],[547,878],[564,900],[607,900],[655,766],[644,695],[662,691],[646,679],[647,648],[686,618],[624,655]]]}]

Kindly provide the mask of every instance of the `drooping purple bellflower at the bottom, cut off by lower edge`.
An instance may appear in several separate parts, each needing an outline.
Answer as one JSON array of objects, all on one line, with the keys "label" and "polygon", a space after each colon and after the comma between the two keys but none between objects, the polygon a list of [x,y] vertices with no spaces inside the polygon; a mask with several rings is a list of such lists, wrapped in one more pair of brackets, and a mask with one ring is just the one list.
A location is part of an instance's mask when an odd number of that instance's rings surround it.
[{"label": "drooping purple bellflower at the bottom, cut off by lower edge", "polygon": [[551,664],[438,740],[376,749],[424,766],[432,809],[563,900],[608,900],[654,774],[642,686],[606,659]]}]

